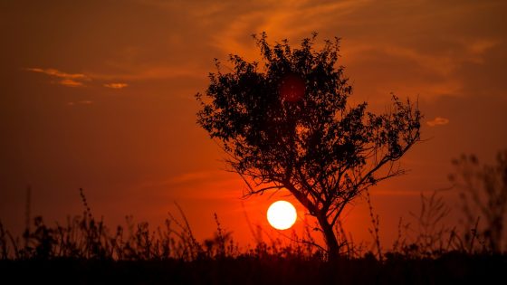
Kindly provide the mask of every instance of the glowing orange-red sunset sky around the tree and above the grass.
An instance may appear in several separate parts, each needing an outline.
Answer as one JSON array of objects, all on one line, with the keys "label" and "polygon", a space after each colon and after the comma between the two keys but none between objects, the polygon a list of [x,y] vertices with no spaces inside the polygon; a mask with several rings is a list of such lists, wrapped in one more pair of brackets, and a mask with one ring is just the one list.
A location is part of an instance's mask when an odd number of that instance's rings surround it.
[{"label": "glowing orange-red sunset sky around the tree and above the grass", "polygon": [[[260,58],[253,33],[297,46],[317,32],[318,44],[341,38],[351,103],[383,110],[394,92],[425,116],[423,141],[402,159],[409,173],[371,189],[388,247],[421,193],[449,188],[454,157],[493,162],[507,147],[506,13],[491,0],[2,1],[0,221],[21,233],[30,185],[32,216],[62,223],[82,213],[82,187],[112,227],[130,214],[161,224],[176,202],[199,239],[213,235],[215,213],[242,243],[252,225],[273,236],[267,207],[294,200],[243,198],[243,181],[196,125],[194,95],[215,58]],[[442,193],[457,216],[456,190]],[[295,205],[297,228],[308,217]],[[343,220],[370,240],[364,199]]]}]

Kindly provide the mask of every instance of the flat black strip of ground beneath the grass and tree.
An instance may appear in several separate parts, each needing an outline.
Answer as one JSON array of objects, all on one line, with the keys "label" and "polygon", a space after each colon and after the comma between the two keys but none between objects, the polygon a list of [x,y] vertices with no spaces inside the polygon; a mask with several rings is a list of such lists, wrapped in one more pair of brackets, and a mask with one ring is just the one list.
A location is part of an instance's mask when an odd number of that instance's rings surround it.
[{"label": "flat black strip of ground beneath the grass and tree", "polygon": [[191,262],[0,261],[2,284],[505,284],[506,274],[505,255],[333,263],[274,257]]}]

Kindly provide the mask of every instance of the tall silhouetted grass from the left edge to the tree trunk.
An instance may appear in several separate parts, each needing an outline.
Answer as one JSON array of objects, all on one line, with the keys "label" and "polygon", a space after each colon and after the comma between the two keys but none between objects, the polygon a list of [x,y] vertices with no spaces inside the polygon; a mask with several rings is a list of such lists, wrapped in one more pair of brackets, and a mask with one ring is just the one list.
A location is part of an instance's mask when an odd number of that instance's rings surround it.
[{"label": "tall silhouetted grass from the left edge to the tree trunk", "polygon": [[[225,232],[215,214],[214,238],[197,241],[187,216],[177,205],[178,216],[168,214],[163,226],[151,228],[148,223],[134,223],[126,216],[126,226],[106,226],[103,218],[91,213],[86,196],[80,189],[84,211],[67,218],[65,224],[49,226],[42,216],[33,218],[23,238],[14,237],[0,222],[0,258],[3,260],[52,260],[74,258],[113,261],[196,261],[238,257],[265,258],[277,256],[323,259],[314,241],[292,234],[290,242],[281,238],[270,242],[258,240],[253,246],[240,248],[232,233]],[[262,229],[259,229],[262,231]]]}]

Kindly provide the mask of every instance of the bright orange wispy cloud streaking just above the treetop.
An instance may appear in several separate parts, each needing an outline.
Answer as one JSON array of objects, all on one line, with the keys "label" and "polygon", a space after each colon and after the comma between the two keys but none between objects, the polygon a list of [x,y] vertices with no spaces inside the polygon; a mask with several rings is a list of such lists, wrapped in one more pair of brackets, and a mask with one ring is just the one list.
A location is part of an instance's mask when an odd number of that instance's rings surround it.
[{"label": "bright orange wispy cloud streaking just above the treetop", "polygon": [[[256,47],[249,36],[252,33],[264,31],[275,41],[285,38],[294,41],[336,24],[338,17],[351,14],[369,2],[371,1],[265,0],[242,8],[231,5],[230,9],[239,11],[229,18],[230,22],[223,23],[218,28],[220,32],[212,36],[211,45],[225,53],[242,51],[242,55],[256,56],[259,52],[256,52]],[[215,17],[215,14],[209,16]]]}]

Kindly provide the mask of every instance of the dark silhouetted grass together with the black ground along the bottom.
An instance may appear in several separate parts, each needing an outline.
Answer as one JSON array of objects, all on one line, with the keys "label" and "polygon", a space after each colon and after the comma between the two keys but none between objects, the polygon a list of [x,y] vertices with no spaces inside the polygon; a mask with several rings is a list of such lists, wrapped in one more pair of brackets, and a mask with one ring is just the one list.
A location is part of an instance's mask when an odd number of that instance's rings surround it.
[{"label": "dark silhouetted grass together with the black ground along the bottom", "polygon": [[[81,190],[83,214],[49,226],[42,217],[15,237],[0,223],[0,276],[15,283],[77,284],[463,284],[499,278],[507,256],[493,253],[478,231],[473,239],[445,227],[448,214],[436,194],[421,199],[414,224],[400,220],[389,251],[378,241],[378,215],[370,201],[372,251],[352,242],[338,261],[306,237],[274,239],[241,248],[215,215],[215,237],[197,241],[184,212],[163,226],[148,223],[109,228],[91,213]],[[369,199],[368,199],[369,200]],[[32,230],[33,229],[33,230]],[[351,241],[345,238],[343,242]],[[310,231],[309,231],[310,233]]]}]

